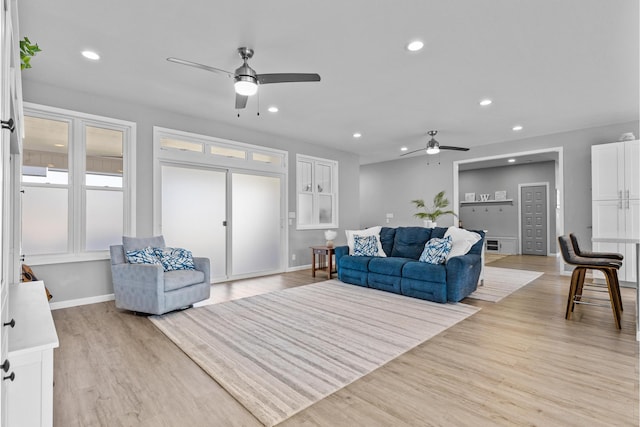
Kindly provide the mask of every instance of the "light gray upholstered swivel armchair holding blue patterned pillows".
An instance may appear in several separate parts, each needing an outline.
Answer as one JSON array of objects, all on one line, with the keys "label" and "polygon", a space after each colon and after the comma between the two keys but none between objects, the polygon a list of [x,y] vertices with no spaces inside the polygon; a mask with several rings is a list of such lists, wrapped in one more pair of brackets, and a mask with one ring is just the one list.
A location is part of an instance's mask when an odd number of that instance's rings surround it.
[{"label": "light gray upholstered swivel armchair holding blue patterned pillows", "polygon": [[161,265],[129,264],[126,251],[147,246],[164,248],[164,237],[122,237],[111,251],[111,276],[116,307],[148,314],[164,314],[209,298],[208,258],[193,258],[195,270],[164,271]]}]

